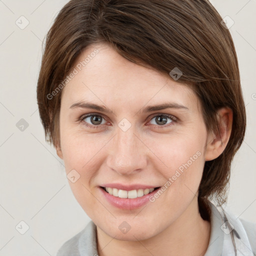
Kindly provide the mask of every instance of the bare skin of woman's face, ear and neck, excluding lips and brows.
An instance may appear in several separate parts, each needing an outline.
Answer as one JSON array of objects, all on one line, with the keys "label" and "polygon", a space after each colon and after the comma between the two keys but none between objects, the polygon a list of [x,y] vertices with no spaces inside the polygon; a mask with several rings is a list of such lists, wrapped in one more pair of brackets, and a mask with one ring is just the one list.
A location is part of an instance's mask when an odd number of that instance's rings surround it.
[{"label": "bare skin of woman's face, ear and neck, excluding lips and brows", "polygon": [[[137,65],[120,56],[108,44],[83,50],[76,63],[90,59],[63,88],[60,107],[60,146],[66,173],[75,169],[80,178],[72,192],[97,226],[97,248],[101,255],[203,255],[207,249],[210,223],[199,214],[197,190],[205,160],[224,150],[231,132],[232,111],[219,110],[220,135],[206,131],[199,101],[193,91],[169,75]],[[113,114],[70,106],[79,101],[104,105]],[[151,112],[147,105],[175,102],[186,106]],[[97,128],[90,117],[102,116]],[[163,124],[160,114],[175,116]],[[118,123],[126,118],[131,127]],[[159,118],[159,117],[158,117]],[[94,122],[95,123],[95,122]],[[171,125],[170,125],[171,124]],[[133,210],[108,203],[98,187],[103,183],[161,186],[196,152],[200,156],[154,202]],[[118,226],[126,221],[127,233]]]}]

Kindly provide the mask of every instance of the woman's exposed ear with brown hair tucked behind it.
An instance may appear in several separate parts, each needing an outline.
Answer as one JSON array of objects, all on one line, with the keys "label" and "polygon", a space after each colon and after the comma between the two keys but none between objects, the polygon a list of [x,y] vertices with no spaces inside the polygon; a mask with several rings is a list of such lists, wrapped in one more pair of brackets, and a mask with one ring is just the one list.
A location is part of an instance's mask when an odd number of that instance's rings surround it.
[{"label": "woman's exposed ear with brown hair tucked behind it", "polygon": [[217,134],[208,134],[205,161],[217,158],[224,151],[232,129],[232,110],[229,107],[220,108],[217,111],[217,121],[219,133],[217,131]]}]

